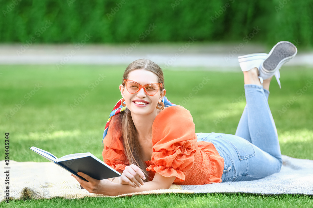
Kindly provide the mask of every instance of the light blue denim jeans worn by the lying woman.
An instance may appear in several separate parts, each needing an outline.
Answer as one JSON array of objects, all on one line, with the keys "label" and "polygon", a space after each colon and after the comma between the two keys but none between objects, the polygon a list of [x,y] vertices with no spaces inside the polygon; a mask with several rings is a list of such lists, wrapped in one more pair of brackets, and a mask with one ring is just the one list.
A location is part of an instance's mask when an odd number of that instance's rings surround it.
[{"label": "light blue denim jeans worn by the lying woman", "polygon": [[236,134],[197,133],[198,142],[214,144],[224,158],[222,182],[250,181],[279,172],[282,159],[269,91],[260,85],[244,85],[246,106]]}]

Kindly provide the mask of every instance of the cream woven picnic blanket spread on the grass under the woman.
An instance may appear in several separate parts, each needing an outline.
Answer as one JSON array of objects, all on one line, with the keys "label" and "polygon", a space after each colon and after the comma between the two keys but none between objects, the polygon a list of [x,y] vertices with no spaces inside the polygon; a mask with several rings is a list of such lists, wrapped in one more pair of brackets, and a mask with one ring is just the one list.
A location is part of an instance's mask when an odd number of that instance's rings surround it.
[{"label": "cream woven picnic blanket spread on the grass under the woman", "polygon": [[[1,195],[9,186],[10,199],[67,199],[89,197],[109,197],[90,194],[80,189],[79,183],[63,168],[52,162],[15,162],[10,161],[1,167]],[[4,168],[4,167],[10,167]],[[9,170],[9,179],[5,171]],[[5,185],[9,180],[9,185]],[[296,159],[283,155],[283,166],[279,173],[254,181],[225,182],[198,186],[172,185],[170,189],[143,191],[120,196],[161,193],[256,193],[256,194],[305,194],[313,195],[313,160]],[[6,200],[1,196],[1,201]]]}]

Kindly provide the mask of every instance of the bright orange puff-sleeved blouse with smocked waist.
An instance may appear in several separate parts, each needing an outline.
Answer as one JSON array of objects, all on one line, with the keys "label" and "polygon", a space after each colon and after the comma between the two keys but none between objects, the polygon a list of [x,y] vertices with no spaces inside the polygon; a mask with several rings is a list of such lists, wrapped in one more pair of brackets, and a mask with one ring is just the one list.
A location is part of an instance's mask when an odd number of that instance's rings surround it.
[{"label": "bright orange puff-sleeved blouse with smocked waist", "polygon": [[[104,138],[103,161],[117,171],[128,165],[121,133],[112,117]],[[149,180],[155,172],[164,177],[176,176],[174,184],[203,185],[222,182],[224,160],[212,143],[197,142],[190,112],[182,106],[164,108],[152,124],[153,152],[146,161]]]}]

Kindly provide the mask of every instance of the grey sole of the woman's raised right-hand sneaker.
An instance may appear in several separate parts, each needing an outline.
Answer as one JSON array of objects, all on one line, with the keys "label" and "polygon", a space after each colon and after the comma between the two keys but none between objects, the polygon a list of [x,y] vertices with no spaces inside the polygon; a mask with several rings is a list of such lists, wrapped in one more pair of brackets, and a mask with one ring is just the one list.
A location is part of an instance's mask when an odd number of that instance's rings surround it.
[{"label": "grey sole of the woman's raised right-hand sneaker", "polygon": [[262,68],[269,73],[280,68],[288,60],[297,54],[295,45],[288,41],[278,42],[269,52],[269,57],[263,62]]}]

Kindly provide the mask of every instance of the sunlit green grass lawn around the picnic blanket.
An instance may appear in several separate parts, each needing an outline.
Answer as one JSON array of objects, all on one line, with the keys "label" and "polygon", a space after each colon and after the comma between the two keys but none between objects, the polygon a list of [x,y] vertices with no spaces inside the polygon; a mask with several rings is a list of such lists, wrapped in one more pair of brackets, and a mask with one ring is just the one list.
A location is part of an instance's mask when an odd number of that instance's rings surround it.
[{"label": "sunlit green grass lawn around the picnic blanket", "polygon": [[[47,162],[29,150],[31,146],[57,157],[91,152],[102,159],[104,126],[121,99],[118,87],[125,68],[65,65],[57,70],[55,65],[0,66],[0,133],[3,138],[5,132],[10,133],[10,160]],[[164,75],[167,98],[191,112],[196,132],[235,133],[245,106],[241,72],[195,68],[165,70]],[[312,68],[283,67],[282,89],[274,78],[269,96],[282,154],[311,160],[312,77]],[[309,207],[312,203],[309,196],[250,194],[10,201],[11,206],[22,207]]]}]

